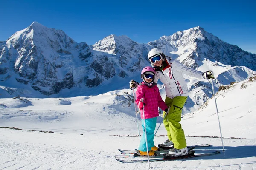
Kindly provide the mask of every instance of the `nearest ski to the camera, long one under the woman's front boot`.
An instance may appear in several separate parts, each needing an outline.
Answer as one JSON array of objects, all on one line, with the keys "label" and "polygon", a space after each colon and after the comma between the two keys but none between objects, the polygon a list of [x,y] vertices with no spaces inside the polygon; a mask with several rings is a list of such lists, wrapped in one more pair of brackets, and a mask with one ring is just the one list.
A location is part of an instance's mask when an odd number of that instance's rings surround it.
[{"label": "nearest ski to the camera, long one under the woman's front boot", "polygon": [[[156,161],[173,161],[173,160],[179,160],[179,159],[187,159],[187,158],[195,158],[195,157],[203,157],[203,156],[211,156],[215,154],[221,153],[220,151],[215,151],[215,152],[210,152],[210,153],[201,153],[201,154],[191,154],[191,155],[184,155],[184,156],[167,156],[163,158],[157,158],[157,159],[149,159],[150,162],[156,162]],[[117,161],[122,162],[122,163],[143,163],[143,162],[148,162],[148,159],[143,159],[143,160],[122,160],[122,159],[117,159]]]}]

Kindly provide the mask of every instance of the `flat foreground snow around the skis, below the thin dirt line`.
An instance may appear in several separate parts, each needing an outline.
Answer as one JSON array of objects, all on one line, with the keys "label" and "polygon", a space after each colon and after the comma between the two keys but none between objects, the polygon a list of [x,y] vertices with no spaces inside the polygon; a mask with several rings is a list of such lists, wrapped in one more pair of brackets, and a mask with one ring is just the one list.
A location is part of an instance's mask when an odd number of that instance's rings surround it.
[{"label": "flat foreground snow around the skis, below the thin dirt line", "polygon": [[[148,163],[122,164],[115,160],[117,149],[133,149],[138,137],[114,137],[110,134],[58,134],[0,129],[0,170],[113,170],[148,169]],[[156,137],[163,142],[166,137]],[[221,139],[187,137],[188,145],[210,143],[195,153],[222,150]],[[256,168],[255,139],[223,139],[225,154],[176,161],[152,162],[151,167],[169,169],[252,170]],[[243,154],[240,154],[240,153]],[[147,159],[147,158],[128,158]]]}]

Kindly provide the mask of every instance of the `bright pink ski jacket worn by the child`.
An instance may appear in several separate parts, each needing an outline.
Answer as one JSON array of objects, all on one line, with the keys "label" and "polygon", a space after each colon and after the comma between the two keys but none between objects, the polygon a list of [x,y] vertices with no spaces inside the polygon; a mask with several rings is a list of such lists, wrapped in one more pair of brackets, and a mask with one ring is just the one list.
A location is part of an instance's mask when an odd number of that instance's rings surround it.
[{"label": "bright pink ski jacket worn by the child", "polygon": [[[137,88],[135,102],[138,108],[141,98],[144,99],[144,103],[146,104],[144,106],[145,119],[159,116],[158,107],[162,110],[168,108],[160,95],[157,84],[154,82],[150,87],[146,85],[145,82],[142,82],[141,85],[139,85],[139,87]],[[143,119],[143,110],[140,110],[140,117],[141,119]]]}]

